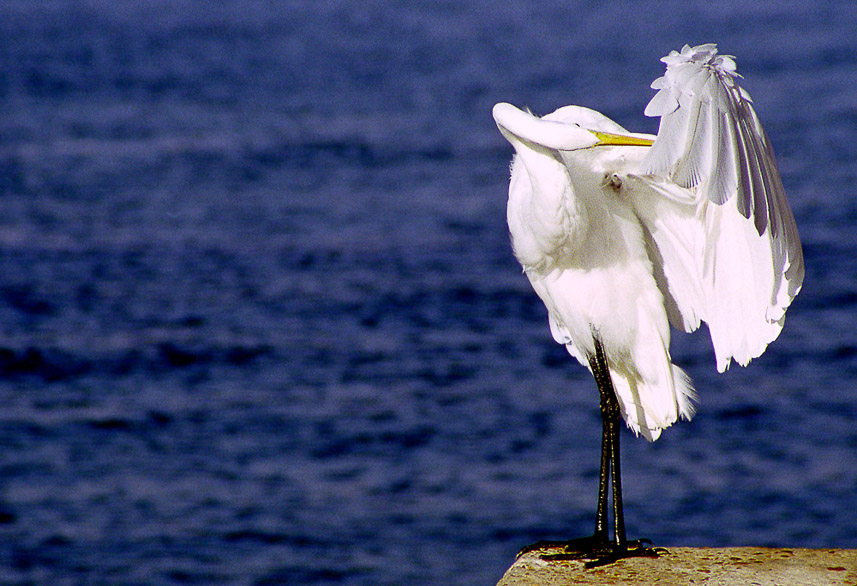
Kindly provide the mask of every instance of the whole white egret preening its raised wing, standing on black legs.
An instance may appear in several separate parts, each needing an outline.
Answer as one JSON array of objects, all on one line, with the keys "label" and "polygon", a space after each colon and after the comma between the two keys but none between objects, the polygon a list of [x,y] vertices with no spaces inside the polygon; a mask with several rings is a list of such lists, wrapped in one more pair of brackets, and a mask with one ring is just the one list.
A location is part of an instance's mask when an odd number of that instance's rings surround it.
[{"label": "whole white egret preening its raised wing, standing on black legs", "polygon": [[[774,153],[732,57],[672,51],[646,107],[657,136],[566,106],[538,118],[505,103],[494,120],[515,149],[507,220],[515,256],[554,339],[588,367],[603,422],[592,537],[539,542],[588,565],[656,555],[625,536],[619,415],[649,441],[694,414],[670,329],[708,324],[717,369],[746,365],[780,333],[803,254]],[[613,492],[613,538],[608,484]]]}]

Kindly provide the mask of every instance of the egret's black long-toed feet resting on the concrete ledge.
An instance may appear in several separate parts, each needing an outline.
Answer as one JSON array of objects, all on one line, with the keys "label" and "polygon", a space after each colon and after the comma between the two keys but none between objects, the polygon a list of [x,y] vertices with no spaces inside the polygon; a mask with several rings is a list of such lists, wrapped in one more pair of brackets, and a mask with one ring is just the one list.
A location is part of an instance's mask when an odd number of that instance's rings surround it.
[{"label": "egret's black long-toed feet resting on the concrete ledge", "polygon": [[595,536],[567,541],[538,541],[523,548],[517,557],[539,551],[539,557],[546,561],[580,560],[585,568],[597,568],[623,558],[656,558],[667,553],[667,550],[661,547],[649,547],[650,544],[647,539],[638,539],[620,546]]}]

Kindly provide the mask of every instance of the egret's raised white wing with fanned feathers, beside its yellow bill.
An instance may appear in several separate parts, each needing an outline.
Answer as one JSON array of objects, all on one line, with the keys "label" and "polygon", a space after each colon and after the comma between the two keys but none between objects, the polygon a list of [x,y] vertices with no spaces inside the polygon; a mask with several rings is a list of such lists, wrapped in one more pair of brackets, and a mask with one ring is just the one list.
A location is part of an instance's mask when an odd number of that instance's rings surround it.
[{"label": "egret's raised white wing with fanned feathers, beside its yellow bill", "polygon": [[780,333],[803,254],[773,149],[715,45],[662,59],[646,115],[660,116],[634,202],[674,327],[708,324],[718,370],[747,364]]}]

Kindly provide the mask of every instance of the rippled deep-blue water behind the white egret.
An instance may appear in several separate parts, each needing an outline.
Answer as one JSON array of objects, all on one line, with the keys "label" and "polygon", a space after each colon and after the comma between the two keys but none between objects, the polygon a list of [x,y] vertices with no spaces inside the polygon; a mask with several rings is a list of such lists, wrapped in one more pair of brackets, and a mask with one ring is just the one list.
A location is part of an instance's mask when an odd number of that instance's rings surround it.
[{"label": "rippled deep-blue water behind the white egret", "polygon": [[[545,3],[548,4],[548,3]],[[491,106],[738,57],[804,242],[780,338],[623,436],[628,532],[857,547],[857,8],[0,4],[0,581],[491,584],[591,532],[600,428]]]}]

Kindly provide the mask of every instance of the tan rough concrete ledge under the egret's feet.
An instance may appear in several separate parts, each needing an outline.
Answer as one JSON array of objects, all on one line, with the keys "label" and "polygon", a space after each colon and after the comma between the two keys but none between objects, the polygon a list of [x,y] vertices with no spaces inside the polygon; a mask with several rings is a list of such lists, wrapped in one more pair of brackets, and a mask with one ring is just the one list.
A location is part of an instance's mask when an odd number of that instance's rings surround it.
[{"label": "tan rough concrete ledge under the egret's feet", "polygon": [[521,556],[498,586],[565,584],[857,584],[857,549],[669,547],[657,559],[628,558],[587,570],[580,561]]}]

